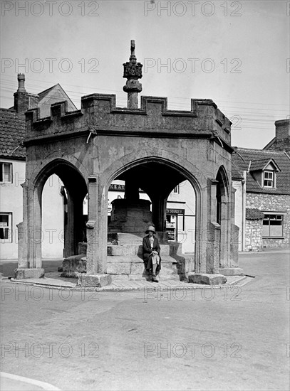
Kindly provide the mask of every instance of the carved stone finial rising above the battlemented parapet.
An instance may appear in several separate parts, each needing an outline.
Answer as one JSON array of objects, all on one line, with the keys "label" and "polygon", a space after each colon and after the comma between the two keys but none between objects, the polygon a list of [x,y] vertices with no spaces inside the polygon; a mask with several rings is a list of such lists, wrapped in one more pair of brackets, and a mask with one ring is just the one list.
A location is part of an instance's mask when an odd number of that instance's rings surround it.
[{"label": "carved stone finial rising above the battlemented parapet", "polygon": [[123,90],[128,93],[128,108],[138,109],[138,92],[142,91],[142,84],[138,82],[138,79],[142,77],[141,63],[137,63],[135,57],[135,41],[131,40],[131,55],[129,62],[123,64],[124,75],[127,79],[126,85]]}]

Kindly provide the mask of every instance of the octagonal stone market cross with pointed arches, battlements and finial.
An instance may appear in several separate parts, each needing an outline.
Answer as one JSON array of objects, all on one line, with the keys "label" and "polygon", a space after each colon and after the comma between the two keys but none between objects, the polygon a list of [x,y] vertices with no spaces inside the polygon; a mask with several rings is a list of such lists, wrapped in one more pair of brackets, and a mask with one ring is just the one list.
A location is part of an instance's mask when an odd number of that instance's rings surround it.
[{"label": "octagonal stone market cross with pointed arches, battlements and finial", "polygon": [[[115,276],[143,275],[140,245],[149,223],[155,225],[162,245],[162,275],[240,274],[231,122],[207,99],[192,99],[189,111],[167,109],[164,97],[141,97],[139,107],[143,65],[137,63],[134,42],[123,66],[128,107],[116,107],[115,95],[92,94],[82,97],[81,109],[73,112],[66,102],[51,105],[45,118],[38,108],[26,112],[24,219],[19,224],[16,278],[44,274],[40,195],[53,174],[66,189],[67,262],[86,262],[86,271],[78,276],[82,286],[103,286]],[[125,183],[124,198],[112,201],[108,223],[108,191],[114,181]],[[176,238],[176,232],[178,239],[177,225],[185,230],[187,211],[174,198],[174,190],[186,181],[195,193],[195,242],[189,255],[182,243],[169,240]],[[150,200],[141,198],[140,189]],[[79,252],[84,238],[86,257]]]}]

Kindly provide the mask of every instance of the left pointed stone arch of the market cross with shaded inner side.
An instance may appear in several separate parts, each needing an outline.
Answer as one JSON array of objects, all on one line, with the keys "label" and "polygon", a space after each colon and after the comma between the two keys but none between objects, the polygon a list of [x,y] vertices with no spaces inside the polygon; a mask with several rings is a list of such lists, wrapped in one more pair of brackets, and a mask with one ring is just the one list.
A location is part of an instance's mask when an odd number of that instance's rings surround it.
[{"label": "left pointed stone arch of the market cross with shaded inner side", "polygon": [[47,179],[52,174],[61,178],[68,194],[68,223],[64,231],[64,256],[77,254],[78,242],[81,242],[86,235],[83,222],[83,198],[88,192],[86,181],[81,171],[71,162],[65,159],[53,159],[40,171],[35,171],[27,181],[26,205],[30,267],[41,267],[42,192]]}]

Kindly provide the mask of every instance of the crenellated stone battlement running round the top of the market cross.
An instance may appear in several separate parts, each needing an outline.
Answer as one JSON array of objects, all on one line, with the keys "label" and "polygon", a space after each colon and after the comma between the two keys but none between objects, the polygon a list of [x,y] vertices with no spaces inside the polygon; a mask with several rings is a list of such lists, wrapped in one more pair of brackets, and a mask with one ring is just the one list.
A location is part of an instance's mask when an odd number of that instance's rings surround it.
[{"label": "crenellated stone battlement running round the top of the market cross", "polygon": [[26,141],[43,136],[78,133],[176,136],[214,135],[230,145],[231,122],[209,99],[192,99],[190,110],[170,110],[166,97],[141,97],[137,109],[116,107],[115,95],[91,94],[81,98],[81,110],[68,112],[66,101],[51,105],[50,117],[40,118],[39,109],[26,112]]}]

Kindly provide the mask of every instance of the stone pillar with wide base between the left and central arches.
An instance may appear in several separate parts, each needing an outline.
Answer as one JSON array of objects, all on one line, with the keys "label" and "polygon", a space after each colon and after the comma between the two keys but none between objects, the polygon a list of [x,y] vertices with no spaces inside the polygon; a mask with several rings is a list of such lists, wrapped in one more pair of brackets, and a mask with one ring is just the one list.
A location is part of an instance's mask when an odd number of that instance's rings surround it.
[{"label": "stone pillar with wide base between the left and central arches", "polygon": [[98,175],[88,177],[88,223],[87,223],[87,272],[79,274],[81,286],[105,286],[112,277],[107,272],[107,215],[105,193],[100,193]]}]

